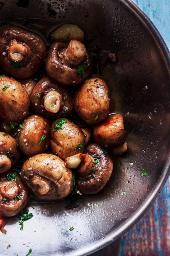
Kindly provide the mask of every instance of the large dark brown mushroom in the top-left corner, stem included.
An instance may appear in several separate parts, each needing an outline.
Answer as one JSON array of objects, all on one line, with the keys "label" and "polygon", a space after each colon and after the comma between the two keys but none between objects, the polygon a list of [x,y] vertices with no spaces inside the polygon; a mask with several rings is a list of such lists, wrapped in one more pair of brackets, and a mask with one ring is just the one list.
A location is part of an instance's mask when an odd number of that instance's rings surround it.
[{"label": "large dark brown mushroom in the top-left corner, stem included", "polygon": [[42,66],[47,47],[41,37],[17,26],[0,31],[0,66],[18,79],[30,78]]}]

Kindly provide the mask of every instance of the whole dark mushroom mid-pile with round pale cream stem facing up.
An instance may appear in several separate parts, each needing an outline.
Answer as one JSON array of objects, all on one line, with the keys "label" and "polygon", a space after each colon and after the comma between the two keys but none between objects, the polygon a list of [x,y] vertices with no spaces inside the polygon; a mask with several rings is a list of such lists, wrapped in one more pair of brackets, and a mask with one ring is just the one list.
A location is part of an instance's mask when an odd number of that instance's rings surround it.
[{"label": "whole dark mushroom mid-pile with round pale cream stem facing up", "polygon": [[51,78],[42,78],[34,87],[31,96],[33,111],[51,120],[68,116],[73,109],[71,93]]}]

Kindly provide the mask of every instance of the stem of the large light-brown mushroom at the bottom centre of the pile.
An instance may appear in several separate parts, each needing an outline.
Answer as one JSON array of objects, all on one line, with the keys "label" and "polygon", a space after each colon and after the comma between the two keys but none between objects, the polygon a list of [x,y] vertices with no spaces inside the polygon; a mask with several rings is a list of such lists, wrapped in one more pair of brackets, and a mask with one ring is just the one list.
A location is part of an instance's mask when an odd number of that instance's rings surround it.
[{"label": "stem of the large light-brown mushroom at the bottom centre of the pile", "polygon": [[36,190],[41,195],[47,194],[48,191],[51,189],[49,183],[38,176],[33,177],[32,183],[36,186]]}]

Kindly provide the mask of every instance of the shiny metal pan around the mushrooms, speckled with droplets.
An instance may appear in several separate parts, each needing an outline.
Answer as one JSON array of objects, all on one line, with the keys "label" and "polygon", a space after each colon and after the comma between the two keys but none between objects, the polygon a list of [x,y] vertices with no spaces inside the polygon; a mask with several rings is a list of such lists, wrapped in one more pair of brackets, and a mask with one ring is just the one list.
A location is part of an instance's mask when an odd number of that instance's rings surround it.
[{"label": "shiny metal pan around the mushrooms, speckled with droplets", "polygon": [[[98,75],[109,84],[112,111],[124,116],[128,152],[113,159],[114,171],[104,189],[81,196],[79,207],[66,209],[65,200],[42,204],[31,199],[29,212],[34,216],[24,222],[23,231],[14,217],[6,226],[7,234],[0,234],[2,256],[26,255],[29,248],[31,255],[88,255],[134,225],[169,175],[166,45],[131,1],[2,0],[0,14],[1,21],[29,23],[32,31],[39,27],[42,35],[51,25],[75,22],[101,49]],[[105,50],[115,52],[117,63],[103,64]]]}]

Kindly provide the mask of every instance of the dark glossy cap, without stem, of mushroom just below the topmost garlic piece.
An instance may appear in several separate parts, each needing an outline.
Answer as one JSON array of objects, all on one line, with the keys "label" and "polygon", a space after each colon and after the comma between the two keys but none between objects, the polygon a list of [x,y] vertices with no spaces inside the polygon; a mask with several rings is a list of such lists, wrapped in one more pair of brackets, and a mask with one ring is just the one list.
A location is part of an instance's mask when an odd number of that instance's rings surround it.
[{"label": "dark glossy cap, without stem, of mushroom just below the topmost garlic piece", "polygon": [[[78,42],[78,41],[77,41]],[[80,43],[80,42],[79,42]],[[82,43],[81,43],[82,44]],[[80,84],[82,81],[87,79],[92,70],[92,58],[88,51],[86,51],[84,61],[82,65],[85,65],[84,74],[81,76],[78,73],[78,67],[63,63],[63,52],[68,47],[68,43],[55,42],[49,47],[47,61],[46,61],[46,72],[47,74],[55,79],[57,82],[65,85]],[[76,56],[76,53],[73,54]],[[74,57],[70,57],[73,59]],[[81,64],[78,64],[81,65]]]}]

